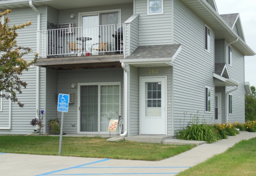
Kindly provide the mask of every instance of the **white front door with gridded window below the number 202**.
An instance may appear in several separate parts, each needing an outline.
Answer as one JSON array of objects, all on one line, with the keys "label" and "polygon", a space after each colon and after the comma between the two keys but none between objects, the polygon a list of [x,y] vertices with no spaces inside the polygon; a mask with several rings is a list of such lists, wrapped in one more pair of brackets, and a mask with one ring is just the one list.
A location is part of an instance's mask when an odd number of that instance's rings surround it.
[{"label": "white front door with gridded window below the number 202", "polygon": [[140,134],[166,134],[166,78],[141,78]]}]

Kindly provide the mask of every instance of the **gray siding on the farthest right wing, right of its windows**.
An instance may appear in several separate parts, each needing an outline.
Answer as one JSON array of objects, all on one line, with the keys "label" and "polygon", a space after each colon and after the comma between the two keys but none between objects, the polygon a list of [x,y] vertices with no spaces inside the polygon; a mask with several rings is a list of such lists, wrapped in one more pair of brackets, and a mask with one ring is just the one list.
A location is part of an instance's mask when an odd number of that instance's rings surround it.
[{"label": "gray siding on the farthest right wing, right of its windows", "polygon": [[[228,65],[228,71],[231,80],[239,82],[239,88],[231,92],[233,99],[233,113],[228,115],[229,122],[244,122],[245,121],[245,88],[244,88],[244,56],[232,47],[232,66]],[[226,92],[235,89],[236,87],[226,87]]]}]

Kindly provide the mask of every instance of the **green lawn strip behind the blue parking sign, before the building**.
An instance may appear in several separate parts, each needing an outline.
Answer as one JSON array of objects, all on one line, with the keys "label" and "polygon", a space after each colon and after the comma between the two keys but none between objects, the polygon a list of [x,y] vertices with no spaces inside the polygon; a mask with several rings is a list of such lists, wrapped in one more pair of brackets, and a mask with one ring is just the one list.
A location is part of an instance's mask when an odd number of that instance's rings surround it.
[{"label": "green lawn strip behind the blue parking sign, before the building", "polygon": [[[101,137],[68,137],[62,141],[62,156],[159,161],[195,145],[167,145],[132,141],[107,142]],[[56,136],[0,136],[0,153],[58,155]]]}]

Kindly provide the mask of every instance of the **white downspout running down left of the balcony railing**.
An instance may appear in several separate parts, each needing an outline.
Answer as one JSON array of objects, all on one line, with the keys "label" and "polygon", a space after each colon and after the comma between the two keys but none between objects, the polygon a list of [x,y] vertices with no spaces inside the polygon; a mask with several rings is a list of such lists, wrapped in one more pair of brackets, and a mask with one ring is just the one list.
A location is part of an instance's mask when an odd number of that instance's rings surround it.
[{"label": "white downspout running down left of the balcony railing", "polygon": [[[36,9],[36,7],[33,5],[32,0],[29,1],[29,5],[30,7],[36,12],[37,14],[37,31],[40,31],[40,25],[41,25],[41,14],[38,11],[38,9]],[[38,32],[37,33],[37,38],[36,38],[36,49],[37,49],[37,53],[39,52],[39,43],[38,43]],[[36,67],[36,110],[39,111],[39,80],[40,78],[40,67]],[[37,112],[36,112],[36,117],[37,117]]]}]

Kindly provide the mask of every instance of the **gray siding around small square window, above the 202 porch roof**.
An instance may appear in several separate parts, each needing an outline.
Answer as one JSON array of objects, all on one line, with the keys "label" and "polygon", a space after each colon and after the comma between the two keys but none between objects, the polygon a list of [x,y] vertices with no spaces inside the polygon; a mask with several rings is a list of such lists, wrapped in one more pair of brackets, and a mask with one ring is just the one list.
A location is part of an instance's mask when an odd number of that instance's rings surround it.
[{"label": "gray siding around small square window, above the 202 porch roof", "polygon": [[136,0],[135,14],[140,14],[140,46],[172,44],[171,0],[164,0],[164,14],[161,15],[147,15],[147,0]]}]

